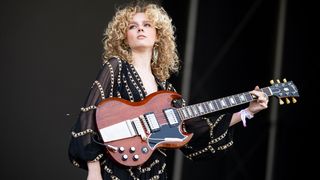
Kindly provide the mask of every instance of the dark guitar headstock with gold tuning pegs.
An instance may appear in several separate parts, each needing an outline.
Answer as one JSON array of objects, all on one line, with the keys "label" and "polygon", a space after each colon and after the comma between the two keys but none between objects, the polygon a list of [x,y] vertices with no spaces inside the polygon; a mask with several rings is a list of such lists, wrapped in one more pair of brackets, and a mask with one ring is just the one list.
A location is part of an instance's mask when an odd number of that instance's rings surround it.
[{"label": "dark guitar headstock with gold tuning pegs", "polygon": [[285,98],[287,104],[290,104],[289,97],[292,98],[292,103],[297,102],[295,97],[299,97],[299,93],[297,87],[293,84],[292,81],[283,79],[283,83],[281,83],[280,80],[277,79],[276,83],[274,82],[274,80],[271,80],[270,83],[272,86],[270,86],[269,88],[272,92],[272,95],[279,98],[280,105],[284,104],[281,98]]}]

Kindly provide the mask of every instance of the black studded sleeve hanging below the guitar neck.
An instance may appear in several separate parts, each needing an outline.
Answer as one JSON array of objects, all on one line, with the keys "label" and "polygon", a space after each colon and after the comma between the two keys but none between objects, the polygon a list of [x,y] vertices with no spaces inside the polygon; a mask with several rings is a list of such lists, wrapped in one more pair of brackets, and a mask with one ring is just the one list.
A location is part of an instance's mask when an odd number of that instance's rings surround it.
[{"label": "black studded sleeve hanging below the guitar neck", "polygon": [[[176,91],[170,83],[167,83],[167,90]],[[184,100],[176,101],[175,106],[185,106]],[[233,127],[229,127],[231,118],[232,113],[225,113],[184,121],[186,131],[193,133],[193,137],[181,151],[191,160],[223,155],[233,144]]]}]

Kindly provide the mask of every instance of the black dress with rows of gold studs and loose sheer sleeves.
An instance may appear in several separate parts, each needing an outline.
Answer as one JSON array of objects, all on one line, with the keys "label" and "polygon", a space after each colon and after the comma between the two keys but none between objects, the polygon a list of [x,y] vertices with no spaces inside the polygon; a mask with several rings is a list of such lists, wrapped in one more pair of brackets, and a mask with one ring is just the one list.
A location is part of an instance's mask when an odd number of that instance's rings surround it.
[{"label": "black dress with rows of gold studs and loose sheer sleeves", "polygon": [[[167,81],[157,81],[157,83],[159,90],[175,91]],[[142,166],[120,166],[108,157],[105,147],[101,145],[101,137],[95,121],[96,106],[103,99],[119,97],[137,102],[143,100],[146,94],[133,65],[116,57],[104,63],[71,130],[68,151],[71,163],[87,170],[88,161],[99,161],[105,180],[167,179],[164,149],[155,150]],[[222,114],[186,121],[186,130],[194,133],[194,136],[180,150],[190,160],[208,159],[223,153],[233,144],[232,130],[229,128],[230,120],[231,114]]]}]

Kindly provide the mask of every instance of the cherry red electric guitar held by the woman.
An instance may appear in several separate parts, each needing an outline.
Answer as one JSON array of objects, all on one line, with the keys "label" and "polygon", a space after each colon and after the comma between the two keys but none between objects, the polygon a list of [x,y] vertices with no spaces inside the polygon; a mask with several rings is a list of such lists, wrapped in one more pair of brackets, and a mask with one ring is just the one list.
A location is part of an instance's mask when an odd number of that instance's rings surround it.
[{"label": "cherry red electric guitar held by the woman", "polygon": [[[261,88],[268,96],[280,98],[299,97],[292,81],[272,83]],[[158,91],[140,102],[120,98],[108,98],[98,104],[96,122],[106,151],[118,163],[138,166],[149,159],[157,148],[180,148],[190,141],[191,133],[183,128],[183,121],[205,114],[234,107],[255,99],[249,92],[235,94],[216,100],[181,108],[172,106],[172,101],[181,95],[172,91]]]}]

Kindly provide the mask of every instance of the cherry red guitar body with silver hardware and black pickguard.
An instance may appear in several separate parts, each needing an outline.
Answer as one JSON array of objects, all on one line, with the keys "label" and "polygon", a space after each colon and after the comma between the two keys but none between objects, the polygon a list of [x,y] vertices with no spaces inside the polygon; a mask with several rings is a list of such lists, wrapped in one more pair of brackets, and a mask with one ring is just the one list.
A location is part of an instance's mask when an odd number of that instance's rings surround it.
[{"label": "cherry red guitar body with silver hardware and black pickguard", "polygon": [[[192,134],[183,131],[179,119],[170,124],[164,113],[164,110],[174,110],[172,101],[179,98],[181,95],[175,92],[158,91],[134,103],[120,98],[103,100],[97,106],[96,121],[111,157],[122,165],[138,166],[147,161],[157,148],[185,145]],[[144,119],[150,114],[150,120]],[[144,132],[139,134],[137,123]]]}]

